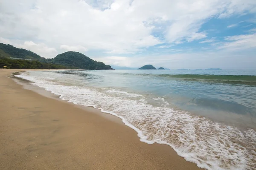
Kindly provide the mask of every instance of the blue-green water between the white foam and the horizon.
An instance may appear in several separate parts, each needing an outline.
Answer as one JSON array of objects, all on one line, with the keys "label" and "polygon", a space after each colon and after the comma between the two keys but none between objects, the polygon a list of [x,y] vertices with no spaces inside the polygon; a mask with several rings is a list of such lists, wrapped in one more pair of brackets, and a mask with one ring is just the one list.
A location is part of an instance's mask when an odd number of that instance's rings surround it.
[{"label": "blue-green water between the white foam and the horizon", "polygon": [[[111,70],[58,73],[76,74],[79,84],[86,83],[88,87],[151,95],[164,99],[176,109],[229,125],[256,127],[256,71]],[[80,82],[81,79],[84,82]],[[157,105],[159,101],[151,102]]]}]

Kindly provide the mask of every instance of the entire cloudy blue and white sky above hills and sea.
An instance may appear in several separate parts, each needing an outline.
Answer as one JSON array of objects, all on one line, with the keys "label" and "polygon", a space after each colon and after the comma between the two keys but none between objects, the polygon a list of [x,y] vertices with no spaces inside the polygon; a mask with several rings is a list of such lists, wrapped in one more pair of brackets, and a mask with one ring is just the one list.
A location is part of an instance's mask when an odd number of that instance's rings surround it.
[{"label": "entire cloudy blue and white sky above hills and sea", "polygon": [[0,42],[132,68],[256,69],[256,0],[0,0]]}]

